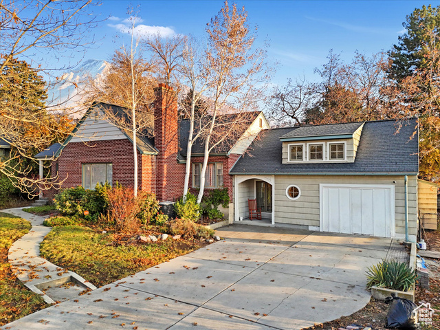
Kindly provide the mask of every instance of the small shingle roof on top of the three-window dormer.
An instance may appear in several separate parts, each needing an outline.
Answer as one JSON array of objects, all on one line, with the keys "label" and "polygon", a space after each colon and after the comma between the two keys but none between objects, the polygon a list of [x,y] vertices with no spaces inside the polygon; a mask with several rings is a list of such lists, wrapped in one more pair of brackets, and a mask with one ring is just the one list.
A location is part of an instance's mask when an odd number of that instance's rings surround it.
[{"label": "small shingle roof on top of the three-window dormer", "polygon": [[327,135],[346,135],[353,134],[362,125],[362,122],[350,122],[347,124],[328,124],[317,126],[300,126],[291,129],[288,133],[281,135],[281,139],[289,137],[309,137],[309,136],[327,136]]}]

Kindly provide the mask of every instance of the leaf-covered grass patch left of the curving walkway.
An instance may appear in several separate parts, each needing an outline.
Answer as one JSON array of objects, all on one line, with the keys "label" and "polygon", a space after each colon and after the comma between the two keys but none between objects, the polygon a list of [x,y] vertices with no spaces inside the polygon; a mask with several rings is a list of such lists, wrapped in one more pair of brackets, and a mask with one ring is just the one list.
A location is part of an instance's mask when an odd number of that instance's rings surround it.
[{"label": "leaf-covered grass patch left of the curving walkway", "polygon": [[8,263],[8,249],[30,228],[29,221],[0,212],[0,326],[47,307],[12,274]]}]

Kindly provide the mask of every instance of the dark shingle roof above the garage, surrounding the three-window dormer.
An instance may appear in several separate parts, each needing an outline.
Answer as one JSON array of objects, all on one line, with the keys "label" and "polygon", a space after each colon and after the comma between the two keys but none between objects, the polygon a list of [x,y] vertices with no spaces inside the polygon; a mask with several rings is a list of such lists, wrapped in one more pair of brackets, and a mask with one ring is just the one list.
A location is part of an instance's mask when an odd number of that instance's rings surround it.
[{"label": "dark shingle roof above the garage, surrounding the three-window dormer", "polygon": [[403,123],[399,133],[396,133],[395,120],[366,122],[353,163],[283,164],[283,142],[280,141],[280,137],[291,132],[292,127],[262,131],[259,138],[251,144],[250,155],[241,156],[230,173],[405,173],[417,175],[419,172],[418,135],[416,134],[410,140],[416,126],[415,119],[408,120]]}]

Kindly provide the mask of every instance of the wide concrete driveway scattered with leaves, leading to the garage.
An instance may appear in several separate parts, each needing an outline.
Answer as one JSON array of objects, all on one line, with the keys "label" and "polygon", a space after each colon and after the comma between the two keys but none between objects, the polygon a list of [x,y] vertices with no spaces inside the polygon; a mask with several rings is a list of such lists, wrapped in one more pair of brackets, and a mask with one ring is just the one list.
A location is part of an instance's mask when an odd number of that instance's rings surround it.
[{"label": "wide concrete driveway scattered with leaves, leading to the garage", "polygon": [[250,225],[217,234],[225,240],[6,327],[301,329],[364,307],[366,267],[391,246],[391,239]]}]

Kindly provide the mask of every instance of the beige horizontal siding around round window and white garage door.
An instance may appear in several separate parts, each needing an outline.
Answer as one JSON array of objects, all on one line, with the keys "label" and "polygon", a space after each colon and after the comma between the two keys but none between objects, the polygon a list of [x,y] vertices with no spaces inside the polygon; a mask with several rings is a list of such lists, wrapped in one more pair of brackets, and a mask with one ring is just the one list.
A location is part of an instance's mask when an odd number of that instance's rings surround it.
[{"label": "beige horizontal siding around round window and white garage door", "polygon": [[[320,184],[393,184],[395,185],[395,232],[405,234],[405,194],[403,176],[355,176],[355,175],[276,175],[275,222],[296,225],[320,225]],[[295,184],[301,190],[300,198],[292,201],[286,196],[286,188]],[[417,177],[408,177],[409,234],[417,234]]]}]

